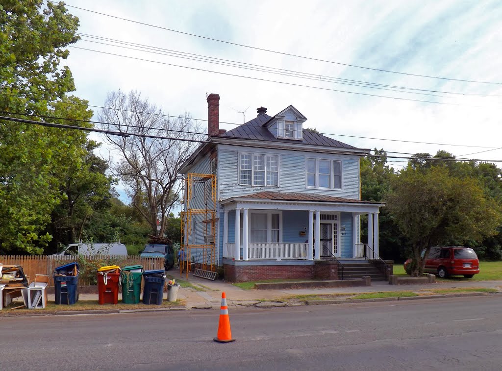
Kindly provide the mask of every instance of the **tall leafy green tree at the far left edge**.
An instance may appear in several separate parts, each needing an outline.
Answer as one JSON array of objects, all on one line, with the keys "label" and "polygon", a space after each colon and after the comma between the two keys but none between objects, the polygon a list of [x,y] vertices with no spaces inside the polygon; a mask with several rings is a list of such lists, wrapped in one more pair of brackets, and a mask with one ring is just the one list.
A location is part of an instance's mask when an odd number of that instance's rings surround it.
[{"label": "tall leafy green tree at the far left edge", "polygon": [[[47,3],[46,9],[42,0],[0,4],[1,111],[47,114],[54,110],[48,102],[68,99],[73,78],[59,64],[68,57],[66,46],[78,40],[77,28],[63,3]],[[0,120],[0,250],[41,253],[51,239],[45,228],[60,200],[58,155],[67,153],[65,137]]]}]

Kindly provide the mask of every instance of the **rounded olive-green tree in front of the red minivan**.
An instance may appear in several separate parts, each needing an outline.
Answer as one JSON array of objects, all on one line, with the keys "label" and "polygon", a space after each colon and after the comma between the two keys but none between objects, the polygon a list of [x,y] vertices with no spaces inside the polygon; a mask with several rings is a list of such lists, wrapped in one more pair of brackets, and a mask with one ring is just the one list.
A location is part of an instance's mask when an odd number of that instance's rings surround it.
[{"label": "rounded olive-green tree in front of the red minivan", "polygon": [[481,240],[494,235],[502,221],[500,204],[476,179],[451,176],[445,167],[409,166],[391,184],[387,207],[411,242],[414,276],[423,272],[422,250],[427,256],[432,245]]}]

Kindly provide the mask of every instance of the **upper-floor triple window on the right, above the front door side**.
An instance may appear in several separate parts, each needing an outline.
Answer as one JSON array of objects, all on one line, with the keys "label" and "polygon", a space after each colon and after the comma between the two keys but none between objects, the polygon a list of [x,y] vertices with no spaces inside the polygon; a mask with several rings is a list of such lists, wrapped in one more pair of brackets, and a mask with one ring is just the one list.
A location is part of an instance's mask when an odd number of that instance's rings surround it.
[{"label": "upper-floor triple window on the right, above the front door side", "polygon": [[307,159],[307,187],[341,189],[341,167],[341,161]]}]

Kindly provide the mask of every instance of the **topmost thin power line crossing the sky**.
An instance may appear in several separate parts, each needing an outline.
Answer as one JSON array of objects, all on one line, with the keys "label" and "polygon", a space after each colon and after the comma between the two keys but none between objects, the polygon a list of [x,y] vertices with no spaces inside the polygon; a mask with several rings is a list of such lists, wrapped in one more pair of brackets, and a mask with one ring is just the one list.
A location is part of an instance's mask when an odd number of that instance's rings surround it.
[{"label": "topmost thin power line crossing the sky", "polygon": [[[55,2],[51,1],[51,3],[55,3]],[[292,54],[292,53],[279,52],[279,51],[276,51],[276,50],[270,50],[270,49],[265,49],[265,48],[258,48],[258,47],[254,47],[254,46],[250,46],[250,45],[232,43],[230,41],[225,41],[225,40],[210,38],[210,37],[207,37],[207,36],[201,36],[201,35],[191,34],[191,33],[188,33],[188,32],[183,32],[183,31],[179,31],[179,30],[174,30],[174,29],[166,28],[166,27],[156,26],[156,25],[145,23],[145,22],[134,21],[134,20],[131,20],[131,19],[128,19],[128,18],[113,16],[113,15],[110,15],[110,14],[100,13],[100,12],[92,11],[92,10],[89,10],[89,9],[75,7],[75,6],[68,5],[68,4],[65,4],[65,5],[67,7],[70,7],[70,8],[75,8],[75,9],[79,9],[79,10],[82,10],[82,11],[85,11],[85,12],[99,14],[101,16],[115,18],[115,19],[119,19],[119,20],[122,20],[122,21],[136,23],[136,24],[143,25],[143,26],[154,27],[154,28],[157,28],[157,29],[165,30],[165,31],[175,32],[175,33],[179,33],[179,34],[183,34],[183,35],[188,35],[188,36],[193,36],[193,37],[198,37],[198,38],[205,39],[205,40],[217,41],[217,42],[225,43],[225,44],[229,44],[229,45],[240,46],[240,47],[243,47],[243,48],[249,48],[249,49],[254,49],[254,50],[261,50],[261,51],[264,51],[264,52],[274,53],[274,54],[280,54],[280,55],[287,55],[287,56],[295,57],[295,58],[303,58],[303,59],[308,59],[308,60],[313,60],[313,61],[318,61],[318,62],[332,63],[332,64],[338,64],[338,65],[341,65],[341,66],[362,68],[362,69],[367,69],[367,70],[372,70],[372,71],[379,71],[379,72],[395,73],[395,74],[400,74],[400,75],[426,77],[426,78],[434,78],[434,79],[440,79],[440,80],[451,80],[451,81],[463,81],[463,82],[473,82],[473,83],[481,83],[481,84],[502,85],[502,82],[479,81],[479,80],[465,80],[465,79],[454,79],[454,78],[448,78],[448,77],[420,75],[420,74],[415,74],[415,73],[398,72],[398,71],[385,70],[385,69],[381,69],[381,68],[364,67],[364,66],[358,66],[358,65],[354,65],[354,64],[341,63],[341,62],[329,61],[329,60],[325,60],[325,59],[307,57],[307,56],[302,56],[302,55],[297,55],[297,54]]]}]

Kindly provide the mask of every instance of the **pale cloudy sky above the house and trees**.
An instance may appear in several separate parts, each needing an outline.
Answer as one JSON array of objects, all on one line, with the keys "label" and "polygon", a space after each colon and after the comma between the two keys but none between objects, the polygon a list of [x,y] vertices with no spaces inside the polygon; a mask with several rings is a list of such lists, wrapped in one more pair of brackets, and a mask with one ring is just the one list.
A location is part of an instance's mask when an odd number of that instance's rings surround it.
[{"label": "pale cloudy sky above the house and trees", "polygon": [[[138,90],[166,114],[186,111],[207,119],[206,94],[217,93],[220,121],[231,123],[243,122],[242,111],[247,121],[260,106],[274,115],[292,104],[307,117],[304,128],[352,146],[384,149],[391,156],[445,150],[457,157],[501,160],[496,164],[502,167],[499,1],[69,0],[67,6],[80,20],[79,33],[309,74],[305,79],[210,64],[159,54],[158,49],[154,54],[84,41],[98,41],[87,36],[73,46],[150,60],[69,47],[63,65],[73,73],[75,94],[89,104],[103,105],[107,92]],[[333,82],[347,82],[340,79],[394,90]],[[207,127],[205,121],[200,124]],[[220,129],[232,128],[220,123]],[[98,135],[93,139],[101,140]],[[109,156],[104,145],[100,153]],[[406,161],[389,163],[401,169]],[[121,186],[117,190],[124,200]]]}]

